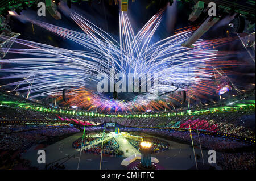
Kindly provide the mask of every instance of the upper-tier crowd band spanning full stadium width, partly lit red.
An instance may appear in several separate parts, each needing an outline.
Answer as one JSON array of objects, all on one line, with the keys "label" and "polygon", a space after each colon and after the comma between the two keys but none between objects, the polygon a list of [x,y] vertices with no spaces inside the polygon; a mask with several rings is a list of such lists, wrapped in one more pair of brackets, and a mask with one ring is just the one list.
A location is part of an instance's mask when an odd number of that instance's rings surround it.
[{"label": "upper-tier crowd band spanning full stadium width, partly lit red", "polygon": [[255,115],[253,109],[214,112],[201,115],[179,115],[171,117],[113,118],[65,115],[26,108],[0,106],[0,120],[62,120],[67,123],[97,125],[105,122],[116,122],[130,127],[165,127],[189,128],[228,133],[237,136],[255,138],[255,121],[241,119],[245,115]]}]

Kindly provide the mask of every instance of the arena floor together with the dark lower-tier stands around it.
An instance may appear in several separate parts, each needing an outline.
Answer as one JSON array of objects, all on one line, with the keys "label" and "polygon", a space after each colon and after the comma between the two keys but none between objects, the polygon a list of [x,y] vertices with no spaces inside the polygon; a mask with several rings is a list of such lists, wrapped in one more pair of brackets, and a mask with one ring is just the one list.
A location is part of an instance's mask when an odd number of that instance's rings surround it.
[{"label": "arena floor together with the dark lower-tier stands around it", "polygon": [[[82,127],[83,129],[84,127]],[[47,169],[77,169],[82,129],[72,125],[6,125],[0,127],[1,169],[46,169],[37,162],[37,151],[45,150]],[[98,169],[102,142],[102,127],[86,127],[82,144],[81,169]],[[191,169],[195,166],[189,132],[145,128],[105,128],[108,140],[103,142],[102,165],[105,169],[127,169],[121,166],[122,159],[141,154],[141,139],[152,143],[152,156],[166,169]],[[196,159],[215,169],[255,169],[254,144],[228,137],[192,132]],[[200,144],[199,144],[200,138]],[[96,143],[96,144],[93,144]],[[216,151],[216,164],[208,163],[208,151]],[[67,162],[56,160],[67,158]],[[51,165],[55,162],[54,165]],[[176,163],[176,164],[175,164]],[[178,164],[179,163],[179,164]],[[207,167],[207,166],[206,166]],[[208,167],[209,168],[209,167]]]}]

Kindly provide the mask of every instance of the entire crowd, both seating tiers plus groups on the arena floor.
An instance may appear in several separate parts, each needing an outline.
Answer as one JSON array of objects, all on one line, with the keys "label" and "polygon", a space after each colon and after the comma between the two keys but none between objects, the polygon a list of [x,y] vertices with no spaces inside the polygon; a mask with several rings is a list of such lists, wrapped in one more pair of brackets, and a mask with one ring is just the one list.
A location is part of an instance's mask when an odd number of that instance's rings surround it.
[{"label": "entire crowd, both seating tiers plus groups on the arena floor", "polygon": [[[255,117],[255,109],[241,109],[233,111],[221,111],[214,113],[203,113],[200,115],[179,115],[171,117],[141,117],[141,118],[109,118],[109,117],[89,117],[79,115],[68,115],[65,113],[50,113],[43,111],[35,111],[30,108],[0,106],[0,121],[9,120],[65,120],[67,123],[96,125],[105,122],[115,122],[127,127],[152,127],[152,128],[120,128],[120,131],[143,132],[148,134],[160,135],[163,137],[177,138],[178,140],[191,143],[189,132],[181,132],[174,130],[162,130],[155,128],[185,128],[191,129],[229,133],[237,136],[255,138],[255,119],[242,119],[242,116]],[[3,125],[3,124],[1,124]],[[84,129],[84,127],[81,127]],[[48,140],[49,137],[63,136],[69,133],[75,133],[79,130],[69,126],[53,126],[46,125],[4,125],[0,127],[0,168],[3,165],[9,167],[30,167],[30,162],[20,158],[27,149],[33,145],[41,144]],[[100,126],[86,127],[86,131],[102,131]],[[88,135],[93,135],[89,133]],[[89,145],[98,137],[86,137],[83,146]],[[199,145],[199,137],[197,133],[192,132],[193,143]],[[139,141],[127,138],[131,145],[139,150]],[[160,141],[156,138],[151,140],[154,153],[164,151],[170,148],[167,142]],[[217,162],[222,169],[254,169],[255,168],[255,152],[236,152],[236,149],[247,148],[252,146],[249,143],[234,140],[227,137],[215,137],[208,134],[200,134],[200,143],[203,149],[213,149],[221,151]],[[81,138],[73,142],[73,148],[80,148]],[[233,150],[233,153],[226,152],[226,150]],[[101,144],[92,145],[89,149],[82,150],[85,153],[100,154]],[[232,152],[232,151],[231,151]],[[236,153],[235,153],[236,152]],[[104,155],[120,156],[123,151],[119,149],[118,142],[112,138],[104,142]],[[61,167],[60,167],[61,169]]]}]

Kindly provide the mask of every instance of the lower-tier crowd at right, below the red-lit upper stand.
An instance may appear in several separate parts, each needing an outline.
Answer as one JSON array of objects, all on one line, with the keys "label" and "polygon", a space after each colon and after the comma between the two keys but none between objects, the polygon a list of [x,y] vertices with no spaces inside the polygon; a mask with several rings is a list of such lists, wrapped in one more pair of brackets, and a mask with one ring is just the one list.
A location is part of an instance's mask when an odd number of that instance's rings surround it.
[{"label": "lower-tier crowd at right, below the red-lit upper stand", "polygon": [[[122,131],[142,131],[139,128],[125,128]],[[148,133],[154,135],[161,135],[163,137],[175,137],[182,141],[187,141],[191,144],[191,137],[189,132],[180,131],[161,131],[157,129],[143,129],[141,134]],[[246,142],[233,140],[225,137],[214,137],[207,134],[200,134],[200,143],[203,149],[219,151],[217,154],[217,165],[224,170],[253,170],[255,169],[255,152],[237,153],[236,149],[249,148],[251,144]],[[196,133],[192,133],[193,144],[199,146],[199,138]],[[131,141],[133,146],[138,147],[138,142]],[[221,153],[221,154],[220,154]]]}]

